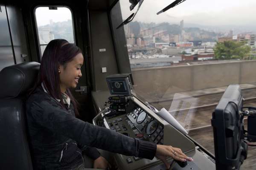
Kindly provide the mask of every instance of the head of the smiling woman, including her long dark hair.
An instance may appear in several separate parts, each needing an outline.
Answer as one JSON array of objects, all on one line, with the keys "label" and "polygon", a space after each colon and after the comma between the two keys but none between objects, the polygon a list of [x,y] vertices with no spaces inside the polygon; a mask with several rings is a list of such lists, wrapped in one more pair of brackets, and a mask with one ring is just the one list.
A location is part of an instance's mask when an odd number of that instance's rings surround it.
[{"label": "head of the smiling woman, including her long dark hair", "polygon": [[[42,84],[55,99],[61,99],[62,94],[67,94],[73,102],[76,115],[79,115],[78,103],[68,88],[76,88],[82,76],[80,68],[83,61],[81,49],[76,45],[67,40],[50,41],[41,59],[38,81],[33,90]],[[60,104],[65,108],[62,100]]]}]

